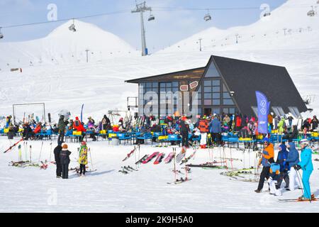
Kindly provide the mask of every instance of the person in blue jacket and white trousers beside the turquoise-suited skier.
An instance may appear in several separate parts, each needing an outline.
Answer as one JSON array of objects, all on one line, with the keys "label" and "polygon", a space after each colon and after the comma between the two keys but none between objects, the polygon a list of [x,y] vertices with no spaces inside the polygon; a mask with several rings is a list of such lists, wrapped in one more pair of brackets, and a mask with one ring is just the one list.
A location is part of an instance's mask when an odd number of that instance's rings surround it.
[{"label": "person in blue jacket and white trousers beside the turquoise-suited skier", "polygon": [[286,189],[288,191],[295,190],[295,186],[297,185],[298,188],[301,188],[301,185],[299,183],[298,175],[296,170],[293,168],[294,165],[297,165],[299,160],[299,153],[296,149],[296,145],[293,142],[289,142],[287,145],[287,148],[289,149],[288,157],[286,159],[286,162],[289,164],[289,189]]}]

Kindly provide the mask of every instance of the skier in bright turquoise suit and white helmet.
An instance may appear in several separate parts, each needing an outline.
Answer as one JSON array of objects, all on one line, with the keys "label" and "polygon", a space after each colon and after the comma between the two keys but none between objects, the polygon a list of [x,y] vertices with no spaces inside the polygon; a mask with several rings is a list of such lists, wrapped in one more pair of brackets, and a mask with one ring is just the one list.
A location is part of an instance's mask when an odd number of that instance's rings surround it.
[{"label": "skier in bright turquoise suit and white helmet", "polygon": [[303,170],[303,195],[300,196],[299,200],[310,200],[312,198],[310,192],[310,184],[309,179],[310,175],[313,172],[313,162],[311,159],[312,150],[309,148],[309,143],[307,139],[303,139],[300,141],[301,144],[301,162],[298,162],[295,165],[295,170]]}]

